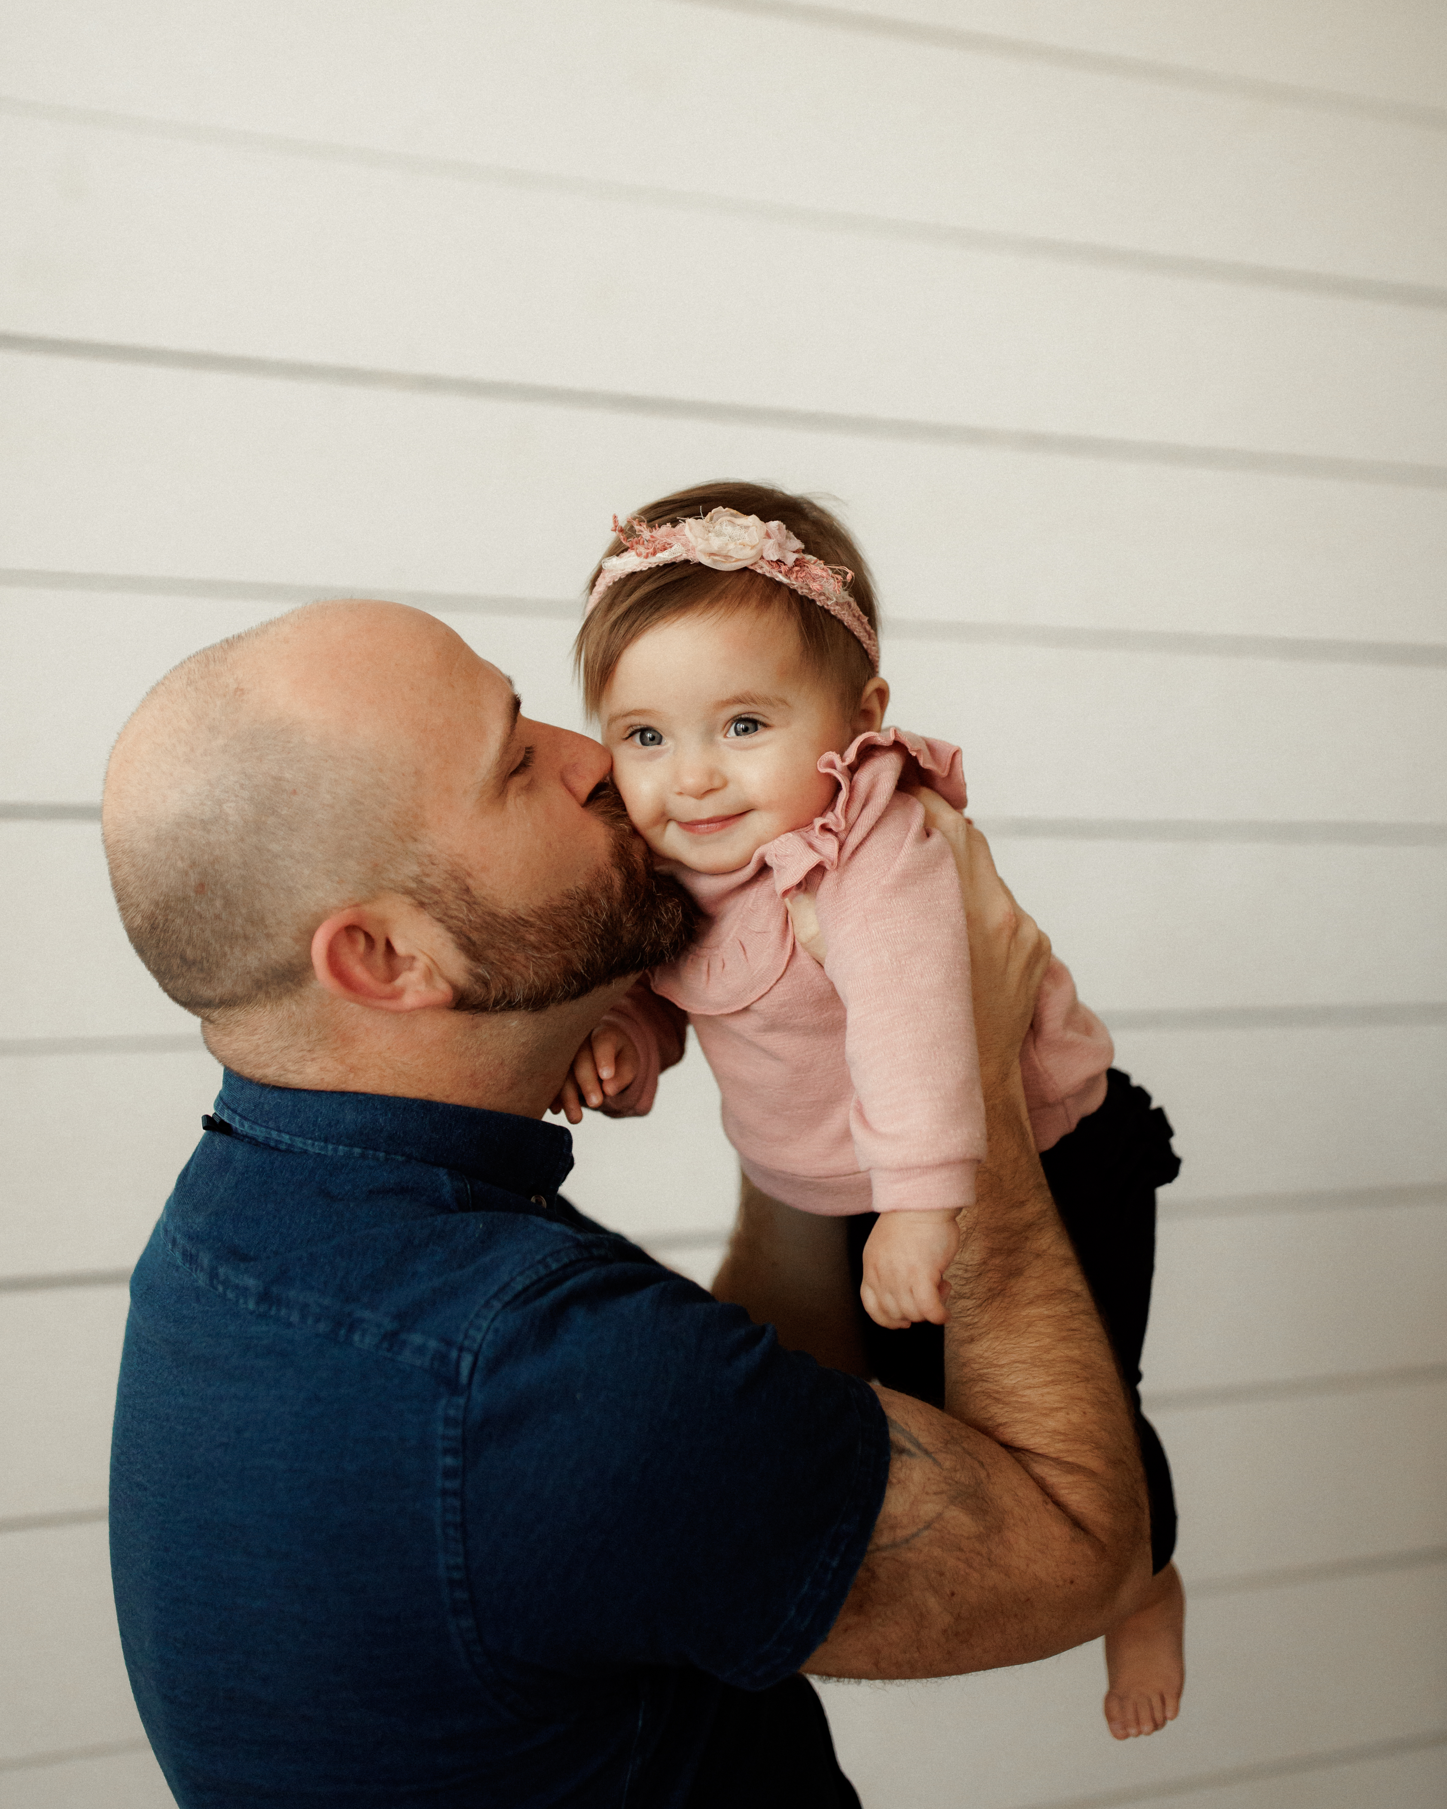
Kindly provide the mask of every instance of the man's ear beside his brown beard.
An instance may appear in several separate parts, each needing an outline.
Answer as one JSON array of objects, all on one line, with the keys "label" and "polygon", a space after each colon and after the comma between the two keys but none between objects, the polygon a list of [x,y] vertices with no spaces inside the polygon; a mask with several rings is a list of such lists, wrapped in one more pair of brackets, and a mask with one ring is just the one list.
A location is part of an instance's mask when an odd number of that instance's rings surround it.
[{"label": "man's ear beside his brown beard", "polygon": [[441,924],[394,894],[333,912],[311,937],[317,982],[374,1011],[447,1009],[456,988],[445,966],[456,961]]}]

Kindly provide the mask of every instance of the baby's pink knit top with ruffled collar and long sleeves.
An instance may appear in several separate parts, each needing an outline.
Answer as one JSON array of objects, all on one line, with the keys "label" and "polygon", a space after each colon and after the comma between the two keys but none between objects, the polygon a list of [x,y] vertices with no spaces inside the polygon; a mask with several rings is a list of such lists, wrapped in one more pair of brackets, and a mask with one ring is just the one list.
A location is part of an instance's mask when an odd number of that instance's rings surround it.
[{"label": "baby's pink knit top with ruffled collar and long sleeves", "polygon": [[[763,1192],[821,1214],[959,1208],[986,1152],[969,941],[953,856],[899,785],[924,781],[964,809],[960,751],[883,729],[819,771],[839,785],[823,816],[731,874],[673,868],[704,924],[610,1013],[640,1053],[611,1111],[651,1107],[687,1013],[724,1129]],[[814,895],[823,964],[794,939],[799,888]],[[1051,961],[1020,1055],[1040,1149],[1100,1105],[1111,1056],[1105,1026]]]}]

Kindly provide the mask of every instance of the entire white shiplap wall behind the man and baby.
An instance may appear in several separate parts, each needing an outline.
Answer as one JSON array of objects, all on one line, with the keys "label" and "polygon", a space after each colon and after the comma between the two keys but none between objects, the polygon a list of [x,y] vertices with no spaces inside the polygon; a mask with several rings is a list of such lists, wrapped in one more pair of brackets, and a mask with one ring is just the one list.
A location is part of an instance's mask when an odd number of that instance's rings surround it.
[{"label": "entire white shiplap wall behind the man and baby", "polygon": [[[355,590],[575,720],[610,512],[714,474],[843,501],[897,720],[1187,1158],[1185,1715],[1116,1747],[1094,1650],[830,1688],[866,1805],[1440,1804],[1442,9],[13,0],[0,157],[0,1805],[168,1802],[107,1429],[215,1069],[114,921],[114,731]],[[579,1145],[707,1270],[696,1056]]]}]

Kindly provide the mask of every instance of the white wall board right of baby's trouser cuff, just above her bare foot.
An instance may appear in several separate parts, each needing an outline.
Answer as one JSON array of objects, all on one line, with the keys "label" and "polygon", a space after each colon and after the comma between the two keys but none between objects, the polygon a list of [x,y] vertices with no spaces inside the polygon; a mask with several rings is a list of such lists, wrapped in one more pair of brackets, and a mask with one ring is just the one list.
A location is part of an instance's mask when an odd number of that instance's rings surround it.
[{"label": "white wall board right of baby's trouser cuff, just above her bare foot", "polygon": [[1447,1545],[1447,1382],[1174,1407],[1152,1424],[1190,1583]]}]

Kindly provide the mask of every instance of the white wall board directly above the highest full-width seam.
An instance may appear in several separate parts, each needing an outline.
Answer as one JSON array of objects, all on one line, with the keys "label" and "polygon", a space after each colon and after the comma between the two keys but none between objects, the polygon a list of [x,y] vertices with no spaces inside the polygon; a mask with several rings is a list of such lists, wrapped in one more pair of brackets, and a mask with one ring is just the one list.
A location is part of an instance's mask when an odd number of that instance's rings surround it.
[{"label": "white wall board directly above the highest full-width seam", "polygon": [[[31,0],[0,58],[27,99],[311,143],[1367,277],[1443,271],[1431,128],[799,18],[434,0],[420,27],[268,0],[244,25],[206,13],[197,29],[186,0]],[[729,248],[749,235],[718,226]]]}]

